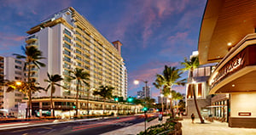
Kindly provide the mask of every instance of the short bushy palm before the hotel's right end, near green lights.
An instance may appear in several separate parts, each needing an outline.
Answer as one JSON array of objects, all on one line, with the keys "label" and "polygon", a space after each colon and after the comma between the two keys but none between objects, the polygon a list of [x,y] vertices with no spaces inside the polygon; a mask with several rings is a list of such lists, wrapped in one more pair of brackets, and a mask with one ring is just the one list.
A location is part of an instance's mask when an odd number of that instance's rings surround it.
[{"label": "short bushy palm before the hotel's right end, near green lights", "polygon": [[114,87],[109,86],[100,86],[99,91],[95,90],[93,92],[93,95],[100,95],[103,98],[104,104],[103,104],[103,114],[105,112],[105,102],[107,98],[113,98],[113,89]]}]

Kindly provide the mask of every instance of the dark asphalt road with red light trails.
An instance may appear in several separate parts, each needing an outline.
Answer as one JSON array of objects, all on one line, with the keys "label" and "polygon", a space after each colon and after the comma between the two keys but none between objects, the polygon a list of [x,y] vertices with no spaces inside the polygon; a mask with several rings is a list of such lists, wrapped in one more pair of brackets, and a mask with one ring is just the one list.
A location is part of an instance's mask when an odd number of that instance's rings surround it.
[{"label": "dark asphalt road with red light trails", "polygon": [[[96,135],[143,122],[140,116],[126,116],[96,121],[76,121],[44,127],[28,127],[0,132],[1,135]],[[142,129],[143,130],[143,129]]]}]

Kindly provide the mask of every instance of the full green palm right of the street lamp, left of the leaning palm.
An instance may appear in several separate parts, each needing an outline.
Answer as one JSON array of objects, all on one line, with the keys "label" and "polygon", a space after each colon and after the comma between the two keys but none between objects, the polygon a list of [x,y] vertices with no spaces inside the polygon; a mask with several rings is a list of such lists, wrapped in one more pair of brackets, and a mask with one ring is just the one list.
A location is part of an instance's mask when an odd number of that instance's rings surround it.
[{"label": "full green palm right of the street lamp, left of the leaning palm", "polygon": [[[181,74],[183,72],[181,70],[178,70],[176,67],[168,67],[165,65],[165,70],[163,70],[162,75],[158,74],[156,75],[157,78],[161,81],[161,83],[164,85],[164,90],[166,92],[172,92],[172,86],[173,85],[184,85],[185,84],[185,79],[178,81],[178,79],[181,78]],[[164,92],[165,93],[165,92]],[[172,97],[172,93],[171,97]],[[172,109],[172,99],[170,99],[170,108],[172,111],[172,118],[174,118],[174,112]]]}]

